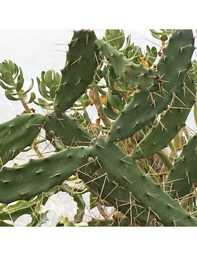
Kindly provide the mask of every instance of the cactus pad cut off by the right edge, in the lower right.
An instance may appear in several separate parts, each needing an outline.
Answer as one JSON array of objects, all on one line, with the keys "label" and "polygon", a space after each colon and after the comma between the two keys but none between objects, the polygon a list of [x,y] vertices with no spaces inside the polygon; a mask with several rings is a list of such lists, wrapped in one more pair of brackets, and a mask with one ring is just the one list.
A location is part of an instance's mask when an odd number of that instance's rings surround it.
[{"label": "cactus pad cut off by the right edge, in the lower right", "polygon": [[172,197],[183,197],[197,185],[197,136],[195,135],[184,146],[179,159],[171,169],[166,187]]}]

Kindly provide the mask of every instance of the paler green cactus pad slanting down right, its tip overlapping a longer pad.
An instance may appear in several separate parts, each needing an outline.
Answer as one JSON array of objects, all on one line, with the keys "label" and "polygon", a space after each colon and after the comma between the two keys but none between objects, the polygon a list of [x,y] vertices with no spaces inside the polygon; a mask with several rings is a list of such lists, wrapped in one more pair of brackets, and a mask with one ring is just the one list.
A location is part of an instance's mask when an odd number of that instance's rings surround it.
[{"label": "paler green cactus pad slanting down right, its tip overlapping a longer pad", "polygon": [[105,55],[106,60],[113,66],[117,76],[123,78],[130,88],[137,88],[148,92],[159,89],[159,76],[157,72],[141,64],[135,64],[102,39],[96,40],[96,45]]}]

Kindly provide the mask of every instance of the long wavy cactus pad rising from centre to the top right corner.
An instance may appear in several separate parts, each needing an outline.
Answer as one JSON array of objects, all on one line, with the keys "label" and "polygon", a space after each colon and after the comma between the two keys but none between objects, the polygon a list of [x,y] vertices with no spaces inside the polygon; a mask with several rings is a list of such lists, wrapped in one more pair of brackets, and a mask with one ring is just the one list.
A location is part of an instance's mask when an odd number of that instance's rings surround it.
[{"label": "long wavy cactus pad rising from centre to the top right corner", "polygon": [[168,108],[173,93],[183,87],[185,74],[191,67],[193,51],[192,30],[176,30],[158,62],[158,74],[162,77],[160,90],[135,93],[132,101],[112,124],[108,140],[132,137]]}]

